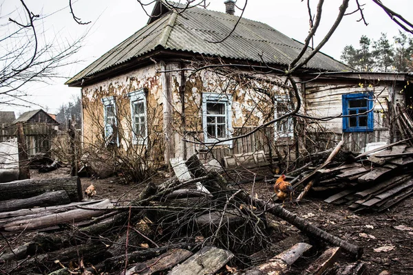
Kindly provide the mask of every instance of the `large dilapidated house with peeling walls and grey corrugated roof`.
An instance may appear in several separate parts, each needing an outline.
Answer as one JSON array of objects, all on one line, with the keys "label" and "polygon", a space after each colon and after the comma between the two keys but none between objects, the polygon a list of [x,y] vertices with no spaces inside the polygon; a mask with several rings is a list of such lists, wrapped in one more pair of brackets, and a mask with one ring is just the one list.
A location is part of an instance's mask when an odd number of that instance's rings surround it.
[{"label": "large dilapidated house with peeling walls and grey corrugated roof", "polygon": [[[81,87],[83,146],[139,151],[153,162],[194,153],[221,162],[255,151],[294,158],[341,139],[361,151],[401,138],[396,113],[411,103],[409,74],[353,72],[318,52],[293,76],[297,98],[279,70],[303,44],[240,19],[233,2],[224,13],[157,1],[144,28],[68,80]],[[231,140],[292,111],[298,100],[298,115]]]}]

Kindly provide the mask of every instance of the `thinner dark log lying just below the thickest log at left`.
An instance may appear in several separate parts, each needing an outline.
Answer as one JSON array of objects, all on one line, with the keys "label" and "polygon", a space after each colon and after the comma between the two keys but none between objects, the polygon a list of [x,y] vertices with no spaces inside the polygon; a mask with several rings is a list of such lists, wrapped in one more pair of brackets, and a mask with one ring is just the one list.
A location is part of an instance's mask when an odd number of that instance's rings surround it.
[{"label": "thinner dark log lying just below the thickest log at left", "polygon": [[0,212],[14,211],[24,208],[57,206],[70,203],[70,198],[65,190],[45,192],[39,196],[27,199],[9,199],[0,201]]}]

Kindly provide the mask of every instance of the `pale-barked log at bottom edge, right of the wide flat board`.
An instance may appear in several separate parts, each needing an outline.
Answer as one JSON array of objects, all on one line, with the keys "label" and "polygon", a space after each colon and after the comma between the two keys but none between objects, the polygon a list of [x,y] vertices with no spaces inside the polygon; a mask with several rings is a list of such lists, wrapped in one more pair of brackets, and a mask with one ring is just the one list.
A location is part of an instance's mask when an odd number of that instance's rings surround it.
[{"label": "pale-barked log at bottom edge, right of the wide flat board", "polygon": [[284,274],[288,267],[297,261],[297,259],[311,247],[312,245],[307,243],[296,243],[292,248],[281,252],[270,261],[263,263],[245,274]]}]

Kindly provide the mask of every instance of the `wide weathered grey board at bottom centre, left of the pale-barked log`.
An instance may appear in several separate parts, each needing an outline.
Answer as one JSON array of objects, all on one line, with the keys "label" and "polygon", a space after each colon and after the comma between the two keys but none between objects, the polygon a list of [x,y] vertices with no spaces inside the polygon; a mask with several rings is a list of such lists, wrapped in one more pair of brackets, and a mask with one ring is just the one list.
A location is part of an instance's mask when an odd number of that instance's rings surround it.
[{"label": "wide weathered grey board at bottom centre, left of the pale-barked log", "polygon": [[233,258],[233,254],[227,250],[205,246],[202,250],[193,254],[187,261],[184,261],[177,267],[174,267],[169,275],[203,275],[215,274],[229,260]]}]

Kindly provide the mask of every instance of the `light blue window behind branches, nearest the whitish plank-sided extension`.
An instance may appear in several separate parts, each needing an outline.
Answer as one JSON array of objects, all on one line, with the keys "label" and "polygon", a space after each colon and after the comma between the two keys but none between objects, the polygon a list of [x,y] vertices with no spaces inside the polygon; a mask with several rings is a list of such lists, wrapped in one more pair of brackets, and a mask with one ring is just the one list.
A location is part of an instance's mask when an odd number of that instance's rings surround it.
[{"label": "light blue window behind branches, nearest the whitish plank-sided extension", "polygon": [[[275,96],[274,102],[274,119],[280,118],[282,115],[289,113],[290,100],[287,96]],[[294,136],[294,122],[293,116],[284,118],[274,123],[275,139],[279,137],[293,137]]]}]

